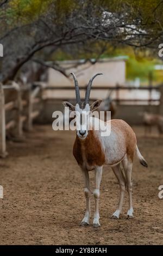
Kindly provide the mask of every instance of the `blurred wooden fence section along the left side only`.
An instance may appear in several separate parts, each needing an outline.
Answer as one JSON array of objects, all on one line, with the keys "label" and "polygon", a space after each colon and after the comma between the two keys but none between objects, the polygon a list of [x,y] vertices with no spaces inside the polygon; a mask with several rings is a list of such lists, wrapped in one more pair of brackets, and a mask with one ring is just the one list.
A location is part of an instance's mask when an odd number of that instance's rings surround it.
[{"label": "blurred wooden fence section along the left side only", "polygon": [[23,139],[23,130],[31,131],[33,120],[40,114],[43,87],[20,87],[11,82],[0,83],[0,156],[8,155],[7,135],[16,141]]}]

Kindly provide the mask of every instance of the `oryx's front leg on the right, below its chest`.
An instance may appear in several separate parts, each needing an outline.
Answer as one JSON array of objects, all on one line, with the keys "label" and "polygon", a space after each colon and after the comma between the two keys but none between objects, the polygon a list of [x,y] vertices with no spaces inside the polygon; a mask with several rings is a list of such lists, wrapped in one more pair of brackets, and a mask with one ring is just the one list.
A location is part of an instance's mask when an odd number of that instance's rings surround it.
[{"label": "oryx's front leg on the right, below its chest", "polygon": [[100,226],[98,201],[99,201],[99,187],[101,184],[102,172],[103,172],[102,166],[98,166],[95,168],[95,190],[93,191],[93,195],[95,198],[95,214],[93,216],[93,227],[94,228],[97,228]]}]

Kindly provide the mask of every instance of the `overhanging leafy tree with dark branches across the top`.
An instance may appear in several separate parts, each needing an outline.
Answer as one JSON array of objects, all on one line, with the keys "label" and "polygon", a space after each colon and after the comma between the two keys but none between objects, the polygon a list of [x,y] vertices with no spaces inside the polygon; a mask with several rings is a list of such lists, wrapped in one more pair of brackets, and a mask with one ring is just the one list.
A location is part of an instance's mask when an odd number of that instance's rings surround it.
[{"label": "overhanging leafy tree with dark branches across the top", "polygon": [[129,45],[157,54],[163,40],[160,0],[3,0],[0,80],[14,79],[29,60],[66,73],[57,56],[99,58],[105,50]]}]

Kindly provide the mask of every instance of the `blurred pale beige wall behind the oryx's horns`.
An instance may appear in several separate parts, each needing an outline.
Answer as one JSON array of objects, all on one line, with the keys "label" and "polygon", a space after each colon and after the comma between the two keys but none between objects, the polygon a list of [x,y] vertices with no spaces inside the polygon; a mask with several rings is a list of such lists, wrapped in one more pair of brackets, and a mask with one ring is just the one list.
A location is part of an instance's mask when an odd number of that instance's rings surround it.
[{"label": "blurred pale beige wall behind the oryx's horns", "polygon": [[[60,62],[65,68],[70,68],[74,64],[74,62]],[[116,84],[124,85],[126,82],[126,63],[125,60],[115,60],[115,59],[104,59],[99,60],[94,65],[90,63],[78,65],[77,68],[70,68],[67,70],[67,74],[70,72],[74,72],[78,78],[79,87],[86,86],[89,82],[90,78],[96,73],[103,73],[102,76],[98,76],[93,81],[93,87],[96,86],[116,86]],[[74,87],[73,78],[66,78],[60,72],[55,71],[53,69],[48,70],[48,86],[52,87],[62,87],[62,86],[72,86]],[[100,91],[100,90],[92,90],[91,97],[101,97],[102,99],[108,94],[108,90]],[[47,92],[48,97],[56,97],[56,98],[65,98],[73,99],[74,91],[72,90],[55,90],[52,92]],[[81,91],[81,96],[84,96],[84,91]]]}]

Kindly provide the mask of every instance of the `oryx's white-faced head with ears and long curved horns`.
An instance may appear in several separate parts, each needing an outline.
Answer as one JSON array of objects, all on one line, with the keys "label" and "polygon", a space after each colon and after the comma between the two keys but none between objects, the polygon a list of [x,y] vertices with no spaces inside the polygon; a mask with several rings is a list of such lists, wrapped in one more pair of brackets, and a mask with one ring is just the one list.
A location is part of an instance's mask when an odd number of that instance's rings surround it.
[{"label": "oryx's white-faced head with ears and long curved horns", "polygon": [[82,102],[80,99],[78,80],[77,80],[76,76],[74,75],[74,73],[71,73],[71,74],[74,79],[77,103],[76,103],[76,106],[73,106],[70,102],[67,102],[67,101],[64,101],[62,103],[64,104],[64,106],[69,107],[69,109],[71,111],[76,112],[77,136],[80,139],[85,139],[86,136],[88,135],[89,117],[91,115],[91,112],[94,111],[96,108],[98,108],[102,102],[102,100],[96,100],[91,105],[89,104],[92,82],[96,76],[102,75],[102,74],[96,74],[95,76],[93,76],[90,79],[89,83],[87,84],[84,102]]}]

